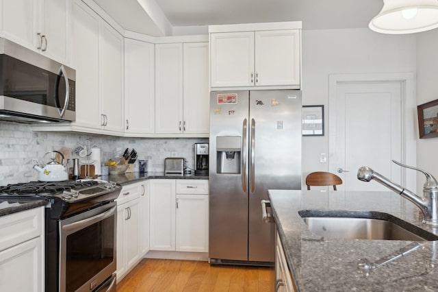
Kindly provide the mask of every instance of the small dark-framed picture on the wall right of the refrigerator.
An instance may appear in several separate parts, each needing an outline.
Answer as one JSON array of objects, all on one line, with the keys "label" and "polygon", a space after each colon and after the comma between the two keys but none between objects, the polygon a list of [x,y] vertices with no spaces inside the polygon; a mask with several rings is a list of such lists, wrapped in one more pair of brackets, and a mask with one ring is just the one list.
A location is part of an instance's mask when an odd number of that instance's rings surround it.
[{"label": "small dark-framed picture on the wall right of the refrigerator", "polygon": [[324,136],[324,106],[302,106],[302,136]]}]

